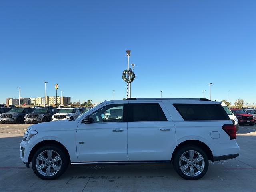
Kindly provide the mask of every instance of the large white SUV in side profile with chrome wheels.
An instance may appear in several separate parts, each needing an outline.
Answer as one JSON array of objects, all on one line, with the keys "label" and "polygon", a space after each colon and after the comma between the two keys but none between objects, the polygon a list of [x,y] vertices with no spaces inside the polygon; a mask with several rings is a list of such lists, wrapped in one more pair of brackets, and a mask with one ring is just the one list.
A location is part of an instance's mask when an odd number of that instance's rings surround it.
[{"label": "large white SUV in side profile with chrome wheels", "polygon": [[207,99],[130,98],[106,101],[69,121],[32,125],[20,158],[42,179],[58,178],[71,164],[172,162],[187,180],[208,160],[239,155],[236,127],[220,102]]}]

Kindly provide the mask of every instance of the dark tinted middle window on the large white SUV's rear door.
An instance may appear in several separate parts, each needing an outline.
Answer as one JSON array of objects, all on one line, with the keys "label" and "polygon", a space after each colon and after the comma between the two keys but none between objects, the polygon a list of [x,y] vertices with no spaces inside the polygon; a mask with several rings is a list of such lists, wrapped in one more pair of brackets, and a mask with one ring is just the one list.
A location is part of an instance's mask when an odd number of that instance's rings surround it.
[{"label": "dark tinted middle window on the large white SUV's rear door", "polygon": [[158,103],[129,104],[128,121],[167,121]]}]

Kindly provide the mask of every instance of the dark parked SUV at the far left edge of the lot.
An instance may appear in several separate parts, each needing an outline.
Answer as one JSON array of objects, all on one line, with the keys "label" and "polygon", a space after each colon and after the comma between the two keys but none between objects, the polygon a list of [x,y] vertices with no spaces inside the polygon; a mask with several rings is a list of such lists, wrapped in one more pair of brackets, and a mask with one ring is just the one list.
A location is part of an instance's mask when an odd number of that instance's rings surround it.
[{"label": "dark parked SUV at the far left edge of the lot", "polygon": [[31,108],[22,108],[22,107],[16,107],[12,108],[6,113],[2,113],[0,115],[0,122],[1,123],[16,123],[21,124],[24,122],[24,116],[33,110]]}]

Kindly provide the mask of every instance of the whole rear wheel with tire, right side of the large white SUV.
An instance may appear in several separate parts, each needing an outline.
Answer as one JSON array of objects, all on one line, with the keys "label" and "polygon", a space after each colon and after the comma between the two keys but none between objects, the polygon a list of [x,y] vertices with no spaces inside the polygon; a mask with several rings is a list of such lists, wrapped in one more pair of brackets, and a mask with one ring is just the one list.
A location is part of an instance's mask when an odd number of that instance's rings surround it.
[{"label": "whole rear wheel with tire, right side of the large white SUV", "polygon": [[197,146],[180,148],[172,162],[176,172],[186,180],[198,180],[202,178],[209,166],[206,153]]}]

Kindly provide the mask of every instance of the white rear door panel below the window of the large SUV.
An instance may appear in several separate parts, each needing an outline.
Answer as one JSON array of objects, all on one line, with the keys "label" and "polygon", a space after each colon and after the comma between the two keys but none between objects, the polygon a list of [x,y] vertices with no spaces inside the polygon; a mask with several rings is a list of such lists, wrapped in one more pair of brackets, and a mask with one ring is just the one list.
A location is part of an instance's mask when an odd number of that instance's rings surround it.
[{"label": "white rear door panel below the window of the large SUV", "polygon": [[173,122],[128,122],[127,135],[129,161],[171,160],[176,147]]}]

